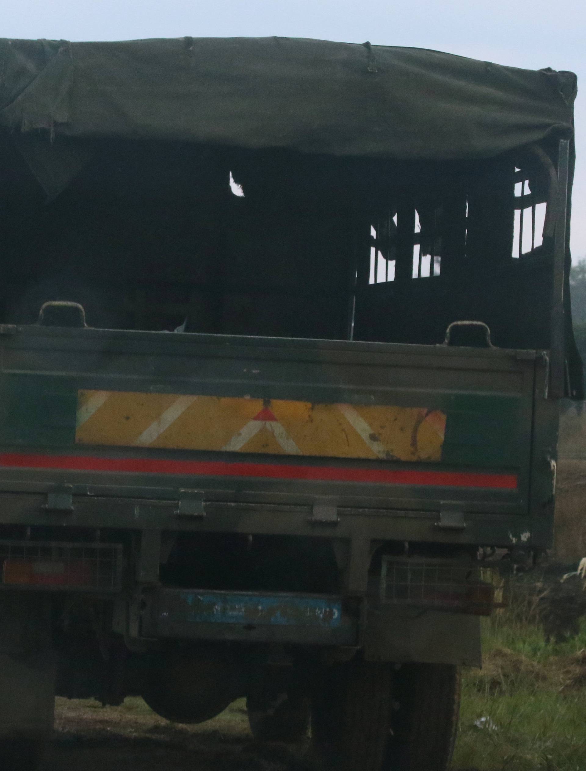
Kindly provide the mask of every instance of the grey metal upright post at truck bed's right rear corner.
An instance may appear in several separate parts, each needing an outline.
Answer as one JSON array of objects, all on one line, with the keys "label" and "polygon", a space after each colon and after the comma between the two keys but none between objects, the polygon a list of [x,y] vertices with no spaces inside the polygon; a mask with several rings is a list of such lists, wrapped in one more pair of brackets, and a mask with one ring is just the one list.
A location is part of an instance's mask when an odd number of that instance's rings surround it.
[{"label": "grey metal upright post at truck bed's right rear corner", "polygon": [[567,177],[570,165],[570,141],[560,140],[557,160],[557,205],[554,233],[554,276],[551,298],[550,398],[564,396],[565,316],[564,274],[566,262]]}]

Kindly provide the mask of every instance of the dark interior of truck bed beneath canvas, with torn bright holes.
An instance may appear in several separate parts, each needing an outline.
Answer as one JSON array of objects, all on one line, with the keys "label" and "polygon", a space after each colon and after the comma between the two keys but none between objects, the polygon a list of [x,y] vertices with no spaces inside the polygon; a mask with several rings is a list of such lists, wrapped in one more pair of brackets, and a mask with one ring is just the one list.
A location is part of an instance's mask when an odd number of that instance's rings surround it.
[{"label": "dark interior of truck bed beneath canvas, with torn bright holes", "polygon": [[469,320],[549,347],[555,142],[399,162],[96,141],[47,200],[2,140],[2,322],[74,301],[100,328],[435,345]]}]

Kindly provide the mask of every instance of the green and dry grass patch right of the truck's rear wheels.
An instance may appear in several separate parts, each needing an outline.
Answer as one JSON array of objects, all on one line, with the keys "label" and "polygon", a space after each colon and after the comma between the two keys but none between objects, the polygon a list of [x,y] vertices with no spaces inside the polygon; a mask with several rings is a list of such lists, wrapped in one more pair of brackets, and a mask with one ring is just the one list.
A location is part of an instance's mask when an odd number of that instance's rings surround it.
[{"label": "green and dry grass patch right of the truck's rear wheels", "polygon": [[484,622],[483,651],[483,669],[464,674],[453,768],[584,771],[586,624],[546,643],[537,625],[503,612]]}]

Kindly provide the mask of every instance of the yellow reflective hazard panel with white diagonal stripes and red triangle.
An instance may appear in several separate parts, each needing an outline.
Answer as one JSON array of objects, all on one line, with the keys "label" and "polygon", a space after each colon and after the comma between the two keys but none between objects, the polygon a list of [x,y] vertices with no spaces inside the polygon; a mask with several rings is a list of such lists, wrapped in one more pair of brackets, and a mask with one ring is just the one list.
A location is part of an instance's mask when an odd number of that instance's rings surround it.
[{"label": "yellow reflective hazard panel with white diagonal stripes and red triangle", "polygon": [[76,443],[333,458],[442,460],[445,414],[425,407],[80,391]]}]

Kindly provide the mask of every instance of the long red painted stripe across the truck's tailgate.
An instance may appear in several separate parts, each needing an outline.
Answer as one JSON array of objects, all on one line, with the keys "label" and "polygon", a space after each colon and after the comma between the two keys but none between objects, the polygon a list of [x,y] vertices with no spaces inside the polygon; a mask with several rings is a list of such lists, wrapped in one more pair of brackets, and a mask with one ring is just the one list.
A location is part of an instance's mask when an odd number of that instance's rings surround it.
[{"label": "long red painted stripe across the truck's tailgate", "polygon": [[230,463],[225,460],[162,460],[155,458],[102,458],[89,455],[0,453],[0,466],[71,471],[124,471],[139,474],[186,476],[254,476],[268,479],[320,482],[434,485],[436,487],[489,487],[516,490],[516,474],[460,471],[357,469],[340,466],[293,466],[284,463]]}]

